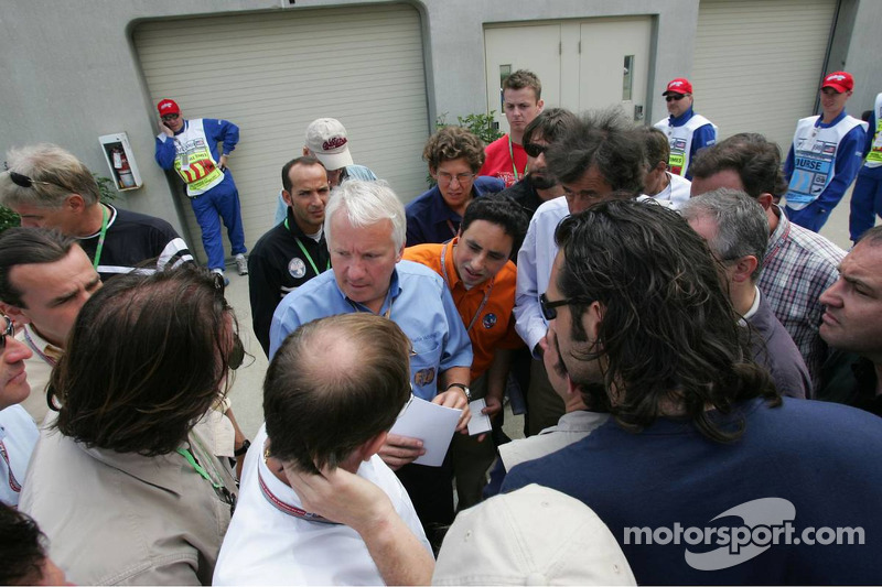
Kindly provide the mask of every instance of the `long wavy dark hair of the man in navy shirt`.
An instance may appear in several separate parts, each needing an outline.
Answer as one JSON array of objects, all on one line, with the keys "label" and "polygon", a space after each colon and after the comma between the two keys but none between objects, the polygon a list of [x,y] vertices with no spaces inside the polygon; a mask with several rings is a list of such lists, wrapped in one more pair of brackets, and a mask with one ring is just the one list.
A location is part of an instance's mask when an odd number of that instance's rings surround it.
[{"label": "long wavy dark hair of the man in navy shirt", "polygon": [[[561,221],[555,235],[566,262],[557,278],[570,305],[572,337],[587,340],[587,301],[602,306],[595,345],[603,385],[583,388],[589,405],[642,430],[678,406],[708,438],[743,432],[719,425],[708,407],[732,412],[763,396],[779,405],[768,373],[751,359],[745,334],[704,241],[677,213],[635,200],[596,204]],[[613,391],[614,390],[614,391]]]}]

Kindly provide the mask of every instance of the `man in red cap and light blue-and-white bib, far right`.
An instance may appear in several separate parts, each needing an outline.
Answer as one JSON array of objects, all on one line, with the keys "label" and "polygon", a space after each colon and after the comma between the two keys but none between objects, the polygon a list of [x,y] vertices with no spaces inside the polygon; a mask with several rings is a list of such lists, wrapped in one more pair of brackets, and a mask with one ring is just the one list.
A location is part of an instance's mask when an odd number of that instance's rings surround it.
[{"label": "man in red cap and light blue-and-white bib, far right", "polygon": [[861,169],[867,122],[848,116],[854,78],[833,72],[820,86],[821,116],[796,123],[790,152],[784,163],[787,206],[792,222],[818,232],[827,222]]}]

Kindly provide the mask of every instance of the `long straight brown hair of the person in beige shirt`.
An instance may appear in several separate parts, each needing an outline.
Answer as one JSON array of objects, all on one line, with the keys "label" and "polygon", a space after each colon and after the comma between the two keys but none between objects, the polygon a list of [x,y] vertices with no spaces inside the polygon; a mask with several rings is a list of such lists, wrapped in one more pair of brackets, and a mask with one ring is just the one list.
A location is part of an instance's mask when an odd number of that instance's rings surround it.
[{"label": "long straight brown hair of the person in beige shirt", "polygon": [[55,425],[89,447],[171,453],[225,393],[236,336],[223,282],[206,269],[118,275],[83,306],[52,373]]}]

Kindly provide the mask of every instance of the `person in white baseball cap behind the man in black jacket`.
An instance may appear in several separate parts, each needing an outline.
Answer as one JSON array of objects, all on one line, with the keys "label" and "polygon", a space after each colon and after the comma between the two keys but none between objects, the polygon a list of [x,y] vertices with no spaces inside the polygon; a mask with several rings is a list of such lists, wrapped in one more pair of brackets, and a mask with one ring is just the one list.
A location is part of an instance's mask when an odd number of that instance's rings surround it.
[{"label": "person in white baseball cap behind the man in black jacket", "polygon": [[[312,155],[327,170],[327,183],[336,187],[346,180],[375,182],[377,176],[364,165],[355,165],[349,153],[349,139],[346,128],[336,118],[316,118],[306,127],[306,142],[303,155]],[[276,224],[284,220],[288,204],[279,193],[276,207]]]}]

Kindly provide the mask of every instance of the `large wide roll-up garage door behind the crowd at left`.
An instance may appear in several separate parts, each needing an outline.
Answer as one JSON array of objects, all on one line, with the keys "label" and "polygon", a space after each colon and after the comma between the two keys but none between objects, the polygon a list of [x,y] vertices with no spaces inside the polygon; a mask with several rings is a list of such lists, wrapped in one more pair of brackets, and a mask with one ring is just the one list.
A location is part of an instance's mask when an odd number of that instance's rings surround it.
[{"label": "large wide roll-up garage door behind the crowd at left", "polygon": [[[272,227],[281,167],[301,154],[315,118],[341,120],[355,162],[388,181],[404,202],[426,189],[420,155],[430,123],[412,7],[163,20],[140,24],[133,40],[153,105],[170,97],[185,117],[240,127],[229,166],[249,248]],[[198,240],[192,210],[183,208]]]}]

